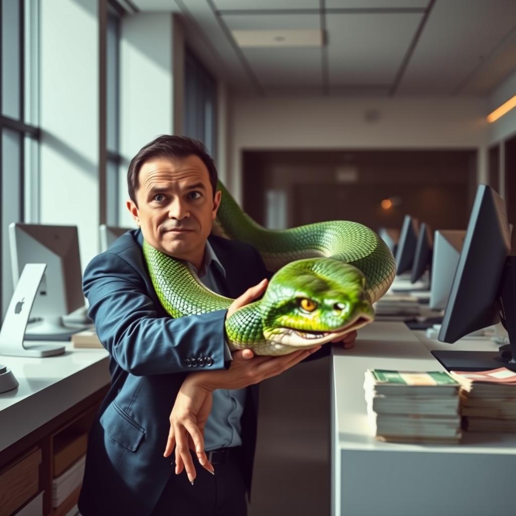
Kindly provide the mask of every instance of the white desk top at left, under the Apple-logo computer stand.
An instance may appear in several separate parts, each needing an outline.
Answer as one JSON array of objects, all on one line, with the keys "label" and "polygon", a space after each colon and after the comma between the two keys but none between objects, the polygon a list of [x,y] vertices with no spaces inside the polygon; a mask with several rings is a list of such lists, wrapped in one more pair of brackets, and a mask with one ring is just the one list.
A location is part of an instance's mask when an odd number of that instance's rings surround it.
[{"label": "white desk top at left, under the Apple-logo computer stand", "polygon": [[106,350],[64,344],[65,353],[56,357],[0,355],[20,383],[0,394],[0,451],[109,383]]}]

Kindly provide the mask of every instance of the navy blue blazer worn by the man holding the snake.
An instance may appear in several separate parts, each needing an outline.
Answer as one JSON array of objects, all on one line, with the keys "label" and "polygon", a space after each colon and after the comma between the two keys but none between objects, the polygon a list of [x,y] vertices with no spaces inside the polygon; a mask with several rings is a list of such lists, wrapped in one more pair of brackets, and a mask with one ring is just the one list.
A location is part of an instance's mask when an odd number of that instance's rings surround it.
[{"label": "navy blue blazer worn by the man holding the snake", "polygon": [[[151,514],[174,474],[173,456],[164,458],[163,451],[175,396],[193,370],[187,359],[205,359],[197,370],[229,366],[224,363],[227,311],[171,318],[154,292],[142,243],[140,230],[125,233],[108,251],[95,256],[84,273],[88,315],[109,351],[111,374],[110,389],[89,434],[78,502],[84,516]],[[224,278],[215,269],[222,294],[236,298],[270,276],[251,246],[216,236],[210,236],[209,243],[226,271]],[[258,388],[252,385],[241,420],[248,493],[257,404]]]}]

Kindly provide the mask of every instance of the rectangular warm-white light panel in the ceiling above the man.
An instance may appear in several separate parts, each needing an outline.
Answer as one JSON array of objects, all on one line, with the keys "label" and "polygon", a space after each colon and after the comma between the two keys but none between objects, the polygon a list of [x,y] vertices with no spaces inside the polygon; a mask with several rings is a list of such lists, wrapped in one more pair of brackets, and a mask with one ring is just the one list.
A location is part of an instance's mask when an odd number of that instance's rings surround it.
[{"label": "rectangular warm-white light panel in the ceiling above the man", "polygon": [[321,47],[323,38],[319,29],[303,30],[232,30],[238,46],[251,47]]}]

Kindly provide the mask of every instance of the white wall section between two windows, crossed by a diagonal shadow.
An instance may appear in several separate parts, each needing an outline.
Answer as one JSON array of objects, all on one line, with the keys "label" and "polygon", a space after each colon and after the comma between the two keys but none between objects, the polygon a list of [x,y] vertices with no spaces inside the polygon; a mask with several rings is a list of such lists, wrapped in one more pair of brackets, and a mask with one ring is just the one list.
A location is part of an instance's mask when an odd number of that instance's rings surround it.
[{"label": "white wall section between two windows, crossed by a diagonal shadow", "polygon": [[40,222],[74,224],[83,270],[98,252],[96,0],[41,3]]}]

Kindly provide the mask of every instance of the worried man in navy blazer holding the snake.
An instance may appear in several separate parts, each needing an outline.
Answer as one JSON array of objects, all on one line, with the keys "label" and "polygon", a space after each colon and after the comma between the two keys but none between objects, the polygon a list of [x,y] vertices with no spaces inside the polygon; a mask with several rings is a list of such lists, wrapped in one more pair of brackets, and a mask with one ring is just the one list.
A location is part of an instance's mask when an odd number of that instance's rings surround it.
[{"label": "worried man in navy blazer holding the snake", "polygon": [[[89,316],[110,353],[111,386],[90,431],[79,510],[83,516],[244,515],[256,384],[310,355],[327,354],[327,346],[316,354],[318,348],[274,358],[253,357],[250,350],[231,356],[225,317],[264,292],[267,271],[252,247],[209,236],[221,192],[202,144],[161,136],[133,158],[127,180],[127,207],[140,229],[96,256],[84,275]],[[235,298],[229,310],[171,318],[154,292],[143,239],[189,262],[212,290]],[[199,377],[202,382],[192,381]],[[184,423],[185,431],[171,436],[170,422]],[[208,451],[201,449],[197,469],[186,431]],[[168,453],[178,444],[172,463],[163,453],[167,442]],[[188,479],[180,474],[183,466]]]}]

